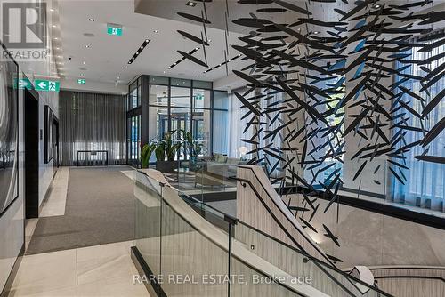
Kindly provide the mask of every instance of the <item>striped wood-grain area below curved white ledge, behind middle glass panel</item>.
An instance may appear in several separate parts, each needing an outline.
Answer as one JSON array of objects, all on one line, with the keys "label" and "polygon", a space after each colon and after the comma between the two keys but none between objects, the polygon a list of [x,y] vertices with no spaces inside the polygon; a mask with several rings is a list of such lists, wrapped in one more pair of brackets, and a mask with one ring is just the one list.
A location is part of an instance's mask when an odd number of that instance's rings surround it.
[{"label": "striped wood-grain area below curved white ledge, behind middle glass panel", "polygon": [[[175,197],[176,196],[176,197]],[[178,282],[164,280],[161,284],[167,296],[227,296],[227,283],[214,284],[206,277],[228,274],[229,254],[216,245],[212,237],[204,236],[168,201],[179,199],[175,189],[163,189],[161,272],[164,277],[182,277]],[[225,238],[224,238],[225,239]],[[225,239],[228,242],[228,237]],[[189,277],[184,281],[183,277]]]}]

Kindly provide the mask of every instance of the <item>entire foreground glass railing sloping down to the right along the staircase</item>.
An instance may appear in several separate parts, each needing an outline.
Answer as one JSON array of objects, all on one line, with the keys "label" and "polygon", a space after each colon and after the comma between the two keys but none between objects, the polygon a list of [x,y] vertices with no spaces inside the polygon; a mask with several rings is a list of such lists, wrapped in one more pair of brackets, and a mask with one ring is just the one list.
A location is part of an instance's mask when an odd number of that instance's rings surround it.
[{"label": "entire foreground glass railing sloping down to the right along the staircase", "polygon": [[[227,296],[229,292],[231,296],[308,296],[308,289],[334,297],[387,296],[146,174],[137,172],[134,177],[135,243],[153,274],[163,276],[158,282],[168,296]],[[220,229],[203,223],[197,213]],[[239,250],[241,245],[244,252]],[[259,267],[269,269],[260,270],[255,261],[244,259],[252,253],[263,259]],[[272,281],[276,275],[266,277],[260,272],[271,274],[271,269],[290,278]],[[305,288],[295,287],[295,280]]]}]

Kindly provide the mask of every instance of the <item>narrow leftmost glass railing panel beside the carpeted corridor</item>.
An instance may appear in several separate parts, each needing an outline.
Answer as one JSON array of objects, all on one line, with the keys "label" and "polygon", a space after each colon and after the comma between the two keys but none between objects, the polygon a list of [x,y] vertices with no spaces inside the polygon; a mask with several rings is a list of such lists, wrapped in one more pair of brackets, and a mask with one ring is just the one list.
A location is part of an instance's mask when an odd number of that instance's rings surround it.
[{"label": "narrow leftmost glass railing panel beside the carpeted corridor", "polygon": [[160,274],[160,215],[162,187],[149,176],[134,172],[135,246],[154,275]]}]

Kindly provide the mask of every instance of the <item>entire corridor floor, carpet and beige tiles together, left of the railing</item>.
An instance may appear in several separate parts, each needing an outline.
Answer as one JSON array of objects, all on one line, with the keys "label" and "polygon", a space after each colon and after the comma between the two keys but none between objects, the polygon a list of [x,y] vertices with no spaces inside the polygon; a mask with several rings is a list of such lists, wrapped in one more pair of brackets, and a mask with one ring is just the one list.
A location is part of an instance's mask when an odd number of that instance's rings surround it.
[{"label": "entire corridor floor, carpet and beige tiles together, left of the railing", "polygon": [[10,296],[149,296],[134,284],[134,195],[129,166],[60,167]]}]

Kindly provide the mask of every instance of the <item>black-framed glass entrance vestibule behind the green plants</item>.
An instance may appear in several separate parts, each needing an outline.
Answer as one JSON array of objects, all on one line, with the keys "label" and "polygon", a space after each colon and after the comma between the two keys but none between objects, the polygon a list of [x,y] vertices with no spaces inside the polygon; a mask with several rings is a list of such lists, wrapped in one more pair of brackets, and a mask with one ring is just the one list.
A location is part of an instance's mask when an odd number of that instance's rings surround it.
[{"label": "black-framed glass entrance vestibule behind the green plants", "polygon": [[[211,82],[139,77],[130,84],[127,100],[128,163],[139,164],[141,145],[162,140],[166,132],[173,131],[173,140],[182,142],[184,137],[179,131],[190,133],[193,143],[198,144],[199,157],[227,155],[228,100],[227,92],[212,90]],[[189,160],[190,149],[183,148],[176,159]],[[153,154],[150,163],[155,161]]]}]

